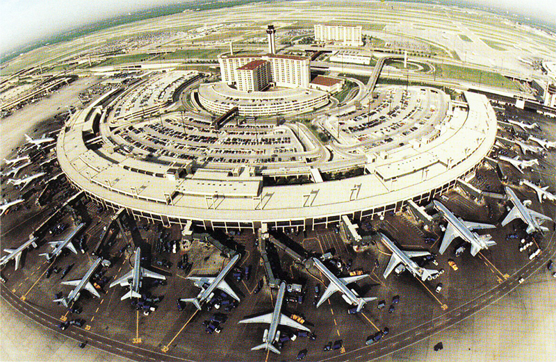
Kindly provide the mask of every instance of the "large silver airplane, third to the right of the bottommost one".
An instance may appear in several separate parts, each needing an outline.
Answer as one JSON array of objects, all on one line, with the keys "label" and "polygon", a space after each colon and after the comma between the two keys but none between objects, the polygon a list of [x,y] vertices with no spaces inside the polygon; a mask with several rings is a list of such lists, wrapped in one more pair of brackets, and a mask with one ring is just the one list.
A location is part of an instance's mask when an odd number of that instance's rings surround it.
[{"label": "large silver airplane, third to the right of the bottommost one", "polygon": [[473,233],[473,230],[495,229],[495,225],[464,221],[461,217],[456,217],[456,215],[454,215],[452,211],[448,210],[448,208],[440,201],[433,200],[432,203],[442,214],[445,220],[448,221],[448,227],[446,227],[444,238],[442,239],[439,249],[440,254],[444,254],[446,249],[450,246],[452,240],[458,237],[471,244],[471,255],[473,256],[477,255],[477,253],[482,249],[488,249],[489,247],[496,245],[496,242],[491,240],[492,236],[489,234],[479,235],[477,233]]}]

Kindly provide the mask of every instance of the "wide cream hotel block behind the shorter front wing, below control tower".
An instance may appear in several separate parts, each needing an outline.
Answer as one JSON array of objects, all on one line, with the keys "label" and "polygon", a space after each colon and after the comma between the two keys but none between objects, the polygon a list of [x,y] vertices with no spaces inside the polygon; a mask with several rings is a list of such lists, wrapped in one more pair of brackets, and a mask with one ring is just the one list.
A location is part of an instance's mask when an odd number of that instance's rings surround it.
[{"label": "wide cream hotel block behind the shorter front wing, below control tower", "polygon": [[[251,87],[246,87],[244,83],[239,85],[239,77],[247,76],[243,74],[243,67],[254,60],[264,61],[268,63],[268,82],[273,83],[278,87],[286,88],[309,88],[309,81],[311,80],[311,70],[309,65],[311,59],[303,56],[284,56],[279,54],[250,54],[231,56],[224,54],[218,57],[220,63],[220,75],[222,81],[228,85],[236,85],[236,88],[254,89],[256,86],[253,84]],[[258,67],[262,67],[259,65]],[[263,69],[258,69],[257,72],[263,72]],[[242,73],[239,75],[238,73]]]}]

